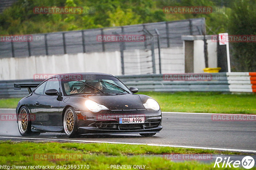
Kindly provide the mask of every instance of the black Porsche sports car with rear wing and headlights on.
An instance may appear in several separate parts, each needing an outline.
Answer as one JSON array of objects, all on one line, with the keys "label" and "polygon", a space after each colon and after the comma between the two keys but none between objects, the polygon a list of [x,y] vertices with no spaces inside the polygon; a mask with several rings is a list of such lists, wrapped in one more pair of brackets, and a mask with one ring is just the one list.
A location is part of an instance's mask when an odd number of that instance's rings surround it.
[{"label": "black Porsche sports car with rear wing and headlights on", "polygon": [[14,84],[14,89],[21,88],[30,93],[16,108],[22,136],[65,132],[69,138],[132,133],[146,137],[163,128],[159,104],[134,94],[137,88],[128,89],[111,74],[58,74],[41,84]]}]

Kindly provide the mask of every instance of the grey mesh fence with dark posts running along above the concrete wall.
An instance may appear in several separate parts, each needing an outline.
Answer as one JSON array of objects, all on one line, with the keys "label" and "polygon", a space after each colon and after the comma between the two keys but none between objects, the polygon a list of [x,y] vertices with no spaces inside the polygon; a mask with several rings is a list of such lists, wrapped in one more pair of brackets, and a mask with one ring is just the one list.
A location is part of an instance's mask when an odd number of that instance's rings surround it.
[{"label": "grey mesh fence with dark posts running along above the concrete wall", "polygon": [[[151,33],[155,32],[155,29],[158,30],[161,48],[182,46],[181,35],[202,35],[205,32],[205,19],[195,18],[101,29],[33,34],[33,40],[28,42],[1,41],[0,57],[120,51],[120,42],[100,42],[97,41],[97,36],[115,33],[120,35],[145,34],[145,29]],[[123,50],[151,48],[148,41],[151,40],[122,42]],[[157,47],[156,40],[154,43]]]}]

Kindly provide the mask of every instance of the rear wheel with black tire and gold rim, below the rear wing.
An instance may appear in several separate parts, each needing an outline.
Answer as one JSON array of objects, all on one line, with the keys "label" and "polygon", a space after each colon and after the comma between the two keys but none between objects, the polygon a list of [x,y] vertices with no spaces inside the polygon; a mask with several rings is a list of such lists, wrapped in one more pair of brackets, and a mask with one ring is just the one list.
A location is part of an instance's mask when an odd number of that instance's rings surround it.
[{"label": "rear wheel with black tire and gold rim, below the rear wing", "polygon": [[31,131],[31,118],[27,107],[22,106],[18,114],[18,129],[21,136],[38,136],[40,132]]}]

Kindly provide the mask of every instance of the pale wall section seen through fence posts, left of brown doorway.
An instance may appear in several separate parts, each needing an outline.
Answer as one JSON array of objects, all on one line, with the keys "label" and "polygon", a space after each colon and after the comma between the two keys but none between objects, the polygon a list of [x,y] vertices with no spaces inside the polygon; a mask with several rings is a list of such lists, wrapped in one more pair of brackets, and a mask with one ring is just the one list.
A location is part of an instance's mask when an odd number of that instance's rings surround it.
[{"label": "pale wall section seen through fence posts, left of brown doorway", "polygon": [[[152,74],[151,50],[125,50],[124,74]],[[158,48],[155,49],[156,74],[159,74]],[[185,73],[185,59],[183,47],[161,48],[162,73]]]}]

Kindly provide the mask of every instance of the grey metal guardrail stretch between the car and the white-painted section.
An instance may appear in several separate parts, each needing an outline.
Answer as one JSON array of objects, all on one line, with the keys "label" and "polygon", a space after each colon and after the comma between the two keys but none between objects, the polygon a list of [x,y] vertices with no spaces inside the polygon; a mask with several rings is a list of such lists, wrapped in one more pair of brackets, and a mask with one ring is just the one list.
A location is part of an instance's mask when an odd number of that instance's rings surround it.
[{"label": "grey metal guardrail stretch between the car and the white-painted section", "polygon": [[[174,74],[175,75],[175,74]],[[176,74],[178,75],[178,74]],[[182,74],[179,74],[182,75]],[[189,74],[193,75],[193,74]],[[197,74],[194,74],[197,75]],[[213,73],[208,81],[166,81],[164,74],[117,76],[128,87],[139,91],[177,92],[177,91],[219,91],[229,92],[226,73]]]}]

